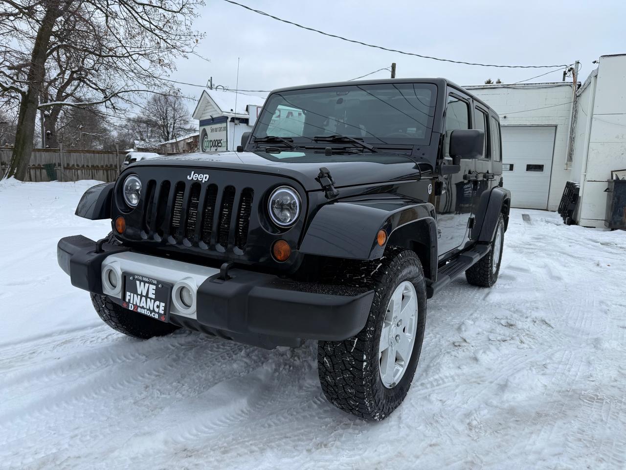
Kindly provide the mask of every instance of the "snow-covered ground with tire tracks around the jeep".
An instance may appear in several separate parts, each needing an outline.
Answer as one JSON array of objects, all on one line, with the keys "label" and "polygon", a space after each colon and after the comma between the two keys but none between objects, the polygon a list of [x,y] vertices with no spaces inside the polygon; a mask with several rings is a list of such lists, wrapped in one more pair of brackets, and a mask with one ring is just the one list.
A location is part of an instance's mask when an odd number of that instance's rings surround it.
[{"label": "snow-covered ground with tire tracks around the jeep", "polygon": [[0,468],[626,467],[626,232],[511,211],[498,284],[429,301],[413,387],[372,424],[326,402],[312,342],[103,325],[56,264],[109,230],[73,215],[91,184],[0,184]]}]

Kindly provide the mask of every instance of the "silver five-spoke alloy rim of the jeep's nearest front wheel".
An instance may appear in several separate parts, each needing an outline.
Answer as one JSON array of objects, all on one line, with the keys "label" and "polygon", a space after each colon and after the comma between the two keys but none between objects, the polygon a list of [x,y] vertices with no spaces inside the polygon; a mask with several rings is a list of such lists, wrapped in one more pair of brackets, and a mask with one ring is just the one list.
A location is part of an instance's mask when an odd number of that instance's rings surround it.
[{"label": "silver five-spoke alloy rim of the jeep's nearest front wheel", "polygon": [[378,348],[382,384],[392,389],[402,379],[413,353],[418,327],[418,296],[410,281],[396,287],[387,304]]}]

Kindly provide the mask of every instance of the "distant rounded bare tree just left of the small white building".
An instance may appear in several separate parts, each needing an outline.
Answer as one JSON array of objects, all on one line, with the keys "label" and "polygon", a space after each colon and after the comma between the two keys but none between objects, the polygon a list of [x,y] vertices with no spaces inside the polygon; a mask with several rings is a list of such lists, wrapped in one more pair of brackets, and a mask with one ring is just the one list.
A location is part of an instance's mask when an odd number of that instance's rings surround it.
[{"label": "distant rounded bare tree just left of the small white building", "polygon": [[166,90],[163,95],[153,95],[146,102],[143,120],[153,128],[153,137],[161,142],[182,137],[195,130],[191,115],[177,90]]}]

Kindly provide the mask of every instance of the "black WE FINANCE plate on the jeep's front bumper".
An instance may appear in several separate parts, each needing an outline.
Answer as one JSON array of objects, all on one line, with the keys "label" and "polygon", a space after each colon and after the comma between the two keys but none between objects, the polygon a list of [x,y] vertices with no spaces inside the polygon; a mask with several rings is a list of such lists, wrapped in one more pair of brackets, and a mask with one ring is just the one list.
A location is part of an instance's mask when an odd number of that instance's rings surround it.
[{"label": "black WE FINANCE plate on the jeep's front bumper", "polygon": [[123,273],[122,306],[160,321],[170,318],[172,285],[141,274]]}]

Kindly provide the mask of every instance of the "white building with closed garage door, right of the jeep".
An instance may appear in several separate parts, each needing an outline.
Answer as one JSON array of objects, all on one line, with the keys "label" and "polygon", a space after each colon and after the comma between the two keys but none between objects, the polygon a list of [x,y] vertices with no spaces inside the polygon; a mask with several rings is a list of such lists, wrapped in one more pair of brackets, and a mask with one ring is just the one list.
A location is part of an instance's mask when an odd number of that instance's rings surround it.
[{"label": "white building with closed garage door, right of the jeep", "polygon": [[500,115],[513,207],[556,211],[580,184],[573,219],[603,227],[612,170],[626,169],[626,55],[601,56],[580,83],[466,86]]}]

